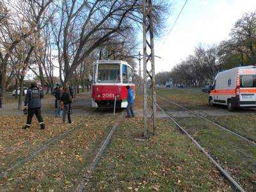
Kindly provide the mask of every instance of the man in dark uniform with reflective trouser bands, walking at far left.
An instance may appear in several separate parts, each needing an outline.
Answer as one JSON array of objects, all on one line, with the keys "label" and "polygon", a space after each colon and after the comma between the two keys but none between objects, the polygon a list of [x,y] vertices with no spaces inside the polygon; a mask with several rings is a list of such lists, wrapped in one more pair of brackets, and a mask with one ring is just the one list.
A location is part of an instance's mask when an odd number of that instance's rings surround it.
[{"label": "man in dark uniform with reflective trouser bands, walking at far left", "polygon": [[41,116],[41,108],[42,103],[41,99],[44,97],[44,90],[40,90],[36,83],[31,83],[31,87],[29,88],[27,95],[24,101],[24,108],[28,109],[28,118],[27,124],[22,127],[23,129],[27,129],[31,126],[32,118],[36,115],[36,118],[40,124],[41,129],[45,129],[44,120]]}]

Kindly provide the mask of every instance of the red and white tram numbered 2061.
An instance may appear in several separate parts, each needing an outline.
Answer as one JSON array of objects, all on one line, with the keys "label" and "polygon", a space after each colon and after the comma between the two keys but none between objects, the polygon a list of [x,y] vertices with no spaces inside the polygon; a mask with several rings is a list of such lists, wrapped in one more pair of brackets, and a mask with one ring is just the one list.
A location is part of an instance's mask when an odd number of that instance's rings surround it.
[{"label": "red and white tram numbered 2061", "polygon": [[92,107],[127,107],[127,89],[135,93],[134,72],[126,61],[95,61],[93,63]]}]

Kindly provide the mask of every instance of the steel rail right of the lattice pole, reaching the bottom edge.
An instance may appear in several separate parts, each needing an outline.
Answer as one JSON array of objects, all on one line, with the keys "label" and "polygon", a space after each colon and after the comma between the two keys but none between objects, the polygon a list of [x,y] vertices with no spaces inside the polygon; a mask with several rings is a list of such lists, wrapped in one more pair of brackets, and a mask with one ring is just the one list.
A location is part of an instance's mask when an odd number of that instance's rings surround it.
[{"label": "steel rail right of the lattice pole, reaching the bottom edge", "polygon": [[218,164],[211,155],[209,155],[207,153],[207,151],[205,151],[205,149],[183,128],[181,127],[181,125],[179,125],[170,115],[168,115],[168,113],[166,113],[157,103],[156,106],[163,111],[163,113],[170,118],[170,120],[172,120],[172,122],[177,125],[177,127],[179,127],[179,129],[184,132],[186,134],[186,136],[188,136],[189,139],[191,139],[193,141],[193,143],[195,143],[195,145],[202,150],[202,152],[204,152],[205,156],[207,156],[210,161],[216,166],[216,168],[218,168],[218,170],[221,172],[221,174],[230,182],[230,184],[232,184],[232,186],[241,192],[244,192],[244,189],[236,182],[236,180],[234,180],[222,167],[220,164]]}]

